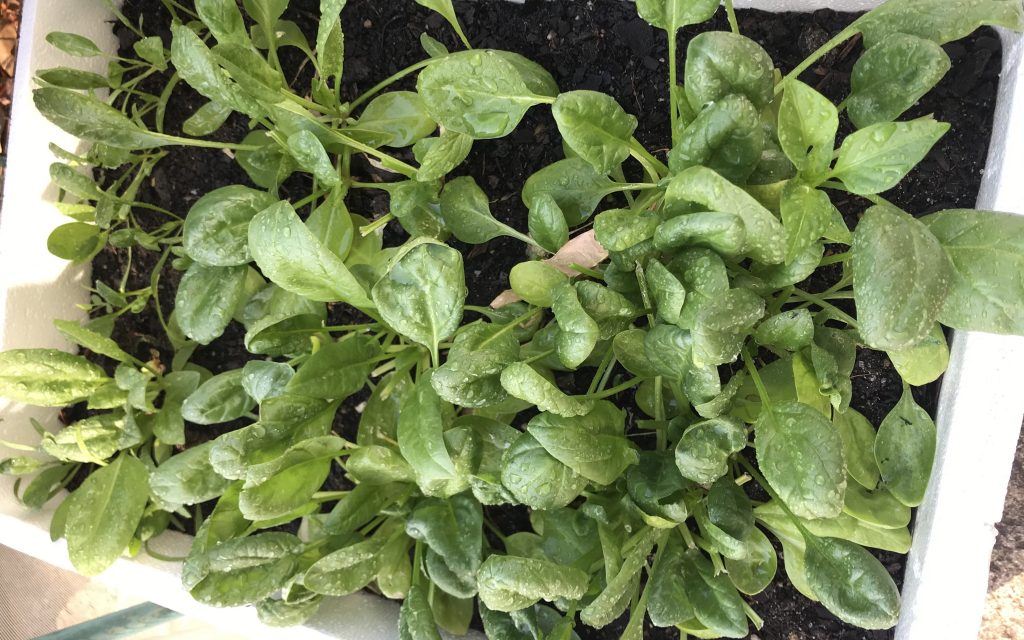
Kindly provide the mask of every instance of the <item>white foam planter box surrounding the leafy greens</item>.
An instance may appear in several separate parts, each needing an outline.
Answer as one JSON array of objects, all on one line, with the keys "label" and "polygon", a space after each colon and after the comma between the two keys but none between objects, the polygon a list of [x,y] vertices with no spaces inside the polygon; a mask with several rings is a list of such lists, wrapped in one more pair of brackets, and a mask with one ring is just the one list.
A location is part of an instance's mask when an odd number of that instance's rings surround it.
[{"label": "white foam planter box surrounding the leafy greens", "polygon": [[[565,1],[565,0],[561,0]],[[879,0],[736,0],[737,8],[810,11],[865,10]],[[74,17],[70,15],[74,12]],[[74,139],[40,116],[33,105],[32,77],[57,65],[88,68],[44,40],[51,31],[73,31],[114,50],[101,0],[26,0],[14,84],[6,187],[0,212],[0,350],[29,347],[71,349],[52,318],[81,317],[75,305],[87,298],[87,273],[49,255],[46,238],[68,221],[49,203],[52,157],[47,142],[66,148]],[[1004,45],[994,131],[977,207],[1024,214],[1024,39],[1000,30]],[[101,63],[93,66],[95,71]],[[977,638],[988,585],[994,524],[1002,503],[1024,415],[1024,338],[955,332],[949,370],[942,384],[937,423],[938,451],[925,503],[918,510],[913,546],[903,587],[898,640]],[[0,399],[0,439],[35,443],[29,419],[56,428],[56,412]],[[16,455],[0,445],[0,458]],[[0,544],[49,563],[71,568],[63,542],[49,540],[56,501],[29,511],[0,477]],[[183,556],[190,539],[168,532],[155,548]],[[119,560],[100,580],[131,590],[158,604],[221,625],[253,638],[397,637],[397,606],[368,595],[333,598],[309,624],[270,630],[251,608],[215,609],[195,602],[180,586],[180,565],[144,554]],[[4,614],[11,614],[4,611]],[[16,613],[15,613],[16,614]]]}]

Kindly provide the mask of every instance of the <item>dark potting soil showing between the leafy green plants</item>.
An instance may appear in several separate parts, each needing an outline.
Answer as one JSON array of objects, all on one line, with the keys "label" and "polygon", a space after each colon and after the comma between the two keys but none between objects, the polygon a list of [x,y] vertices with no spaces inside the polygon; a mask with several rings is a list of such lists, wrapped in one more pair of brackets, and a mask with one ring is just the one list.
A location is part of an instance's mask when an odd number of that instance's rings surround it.
[{"label": "dark potting soil showing between the leafy green plants", "polygon": [[[626,111],[640,117],[636,135],[649,150],[663,154],[670,142],[668,118],[668,48],[664,32],[656,31],[637,17],[630,3],[618,0],[578,0],[548,2],[527,0],[523,5],[495,0],[457,0],[456,8],[470,41],[477,47],[516,51],[536,60],[550,71],[563,90],[592,89],[614,96]],[[125,0],[124,13],[132,22],[140,19],[150,35],[159,35],[169,44],[169,15],[160,0]],[[293,0],[285,17],[295,20],[307,34],[314,34],[318,16],[317,0]],[[773,14],[761,11],[739,11],[740,31],[761,43],[771,53],[776,67],[783,72],[793,69],[820,44],[846,27],[854,14],[820,10],[803,14]],[[452,49],[459,45],[442,18],[412,2],[380,2],[349,0],[343,14],[346,39],[346,67],[343,96],[351,99],[383,78],[419,61],[424,53],[419,36],[426,31]],[[122,53],[131,55],[134,36],[115,26]],[[711,26],[699,30],[683,30],[685,43],[698,31],[727,30],[722,11]],[[914,215],[940,209],[974,206],[991,134],[992,114],[1001,60],[1000,43],[991,30],[978,32],[969,39],[944,47],[952,60],[952,69],[939,86],[921,100],[906,118],[934,114],[940,121],[952,123],[952,129],[896,188],[885,194],[886,199]],[[853,63],[861,50],[858,40],[829,53],[809,69],[802,79],[836,101],[849,87]],[[680,46],[680,62],[685,46]],[[286,77],[300,92],[309,86],[311,70],[301,65],[301,54],[284,49],[282,59]],[[682,63],[680,63],[682,69]],[[160,92],[164,79],[153,77],[142,89]],[[395,89],[415,86],[410,78]],[[206,100],[183,84],[171,96],[165,130],[179,134],[181,123]],[[240,140],[248,132],[248,123],[236,115],[211,137],[224,141]],[[844,119],[841,135],[852,128]],[[216,150],[170,147],[148,181],[139,193],[139,200],[184,216],[189,207],[204,194],[225,184],[249,184],[245,172],[229,155]],[[492,199],[496,217],[516,228],[526,226],[526,210],[519,193],[526,178],[538,169],[562,158],[558,131],[550,110],[536,108],[508,137],[477,141],[469,159],[457,173],[472,175]],[[368,163],[357,161],[353,172],[361,181],[388,180]],[[116,172],[97,171],[101,180],[111,180]],[[308,194],[309,180],[297,175],[282,187],[282,198],[299,200]],[[834,202],[853,227],[868,206],[866,201],[848,195],[836,195]],[[369,218],[388,211],[387,196],[356,189],[349,196],[349,209]],[[158,226],[163,220],[156,214],[136,210],[142,225]],[[385,229],[388,246],[400,243],[404,232],[392,222]],[[523,246],[512,239],[499,238],[486,245],[469,247],[452,241],[463,252],[470,304],[486,305],[508,286],[510,268],[525,259]],[[105,283],[121,281],[128,270],[128,289],[148,285],[151,270],[159,256],[135,250],[131,260],[125,250],[108,247],[93,262],[93,275]],[[806,286],[817,290],[836,274],[825,272]],[[170,267],[163,270],[159,297],[165,313],[173,306],[174,293],[180,273]],[[332,305],[331,324],[346,324],[357,314]],[[248,358],[242,343],[244,330],[233,324],[224,336],[213,344],[197,350],[194,361],[213,372],[241,367]],[[150,359],[154,355],[169,362],[173,353],[151,304],[137,315],[125,315],[117,324],[114,336],[135,355]],[[97,358],[102,361],[102,358]],[[110,362],[105,362],[110,366]],[[854,370],[852,406],[878,425],[895,406],[901,392],[899,377],[884,353],[858,351]],[[571,374],[559,382],[570,389],[586,386]],[[919,402],[934,413],[938,385],[915,389]],[[336,431],[353,437],[358,417],[358,404],[366,393],[349,398],[339,411]],[[624,396],[622,400],[626,401]],[[70,415],[79,414],[72,410]],[[188,445],[216,437],[242,423],[199,427],[189,425]],[[329,488],[348,486],[348,480],[335,472]],[[488,509],[488,516],[509,530],[528,524],[523,508]],[[902,581],[903,558],[890,553],[877,554],[897,580]],[[751,638],[767,640],[880,640],[891,638],[891,632],[868,632],[853,629],[837,621],[818,604],[801,596],[781,578],[762,594],[750,598],[754,608],[765,618],[765,627]],[[625,618],[607,628],[594,631],[579,627],[584,640],[617,638]],[[677,632],[646,628],[646,638],[675,638]]]}]

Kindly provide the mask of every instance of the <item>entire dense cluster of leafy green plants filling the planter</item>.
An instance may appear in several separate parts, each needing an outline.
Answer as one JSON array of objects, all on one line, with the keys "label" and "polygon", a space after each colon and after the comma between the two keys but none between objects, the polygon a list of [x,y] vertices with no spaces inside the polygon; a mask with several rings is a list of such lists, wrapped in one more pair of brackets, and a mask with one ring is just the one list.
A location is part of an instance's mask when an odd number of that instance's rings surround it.
[{"label": "entire dense cluster of leafy green plants filling the planter", "polygon": [[[110,244],[160,260],[150,288],[96,283],[87,323],[57,321],[115,367],[0,354],[0,395],[90,410],[55,433],[39,428],[26,449],[45,459],[0,464],[38,472],[20,499],[38,507],[87,468],[52,523],[79,571],[191,520],[185,588],[208,604],[255,604],[272,625],[369,588],[403,599],[401,638],[464,633],[474,610],[493,638],[571,638],[578,620],[603,627],[626,611],[624,638],[642,637],[645,617],[740,638],[761,623],[742,596],[775,579],[771,537],[801,593],[851,624],[892,627],[899,593],[865,547],[907,551],[928,483],[936,430],[909,385],[945,369],[940,325],[1024,334],[1024,218],[915,219],[879,194],[947,129],[898,120],[949,68],[940,45],[982,25],[1024,29],[1020,2],[891,0],[783,77],[738,33],[728,1],[731,31],[690,40],[679,75],[678,31],[710,19],[718,0],[638,0],[669,38],[663,158],[610,96],[561,92],[521,55],[471,48],[451,0],[417,2],[466,49],[424,35],[423,61],[357,97],[340,90],[345,0],[321,1],[312,43],[282,20],[287,0],[243,0],[245,13],[234,0],[165,0],[169,50],[139,31],[137,59],[111,58],[106,76],[39,74],[39,110],[93,142],[85,156],[54,147],[58,206],[74,221],[51,251],[81,262]],[[866,50],[841,104],[798,80],[857,35]],[[102,55],[80,36],[49,41]],[[308,58],[311,86],[288,86],[283,47]],[[162,94],[139,89],[171,70]],[[413,74],[415,92],[386,92]],[[164,132],[178,83],[209,100],[184,124],[193,137]],[[475,140],[548,108],[565,159],[526,181],[528,229],[515,229],[473,178],[446,176]],[[856,130],[837,148],[844,112]],[[232,113],[251,122],[244,140],[201,139]],[[184,216],[161,210],[166,223],[143,228],[135,210],[154,207],[136,193],[177,144],[232,152],[252,184],[206,194]],[[357,181],[356,155],[392,177]],[[97,185],[78,170],[94,165],[121,177]],[[293,173],[311,176],[308,195],[281,200]],[[350,213],[354,189],[386,191],[390,213]],[[873,203],[852,231],[835,193]],[[383,247],[391,220],[411,239]],[[496,308],[467,307],[463,256],[445,240],[499,236],[530,257]],[[826,255],[826,243],[849,249]],[[168,262],[183,275],[165,318]],[[837,264],[824,291],[803,286]],[[365,322],[325,326],[328,304]],[[110,338],[116,318],[143,309],[160,314],[171,361]],[[245,367],[213,375],[189,361],[232,322]],[[888,353],[904,380],[878,428],[850,408],[858,347]],[[556,382],[565,371],[593,382],[568,393]],[[332,423],[366,388],[348,441]],[[628,421],[628,404],[643,418]],[[186,424],[238,419],[251,424],[182,449]],[[322,490],[336,467],[350,490]],[[528,507],[530,528],[503,530],[489,508],[502,505]],[[280,529],[295,521],[299,535]]]}]

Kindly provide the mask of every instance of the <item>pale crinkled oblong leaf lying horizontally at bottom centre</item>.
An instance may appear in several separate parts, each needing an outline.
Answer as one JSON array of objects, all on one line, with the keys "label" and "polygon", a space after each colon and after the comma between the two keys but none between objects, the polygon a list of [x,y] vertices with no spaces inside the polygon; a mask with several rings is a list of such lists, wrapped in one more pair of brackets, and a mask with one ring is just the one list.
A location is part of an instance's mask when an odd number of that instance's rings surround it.
[{"label": "pale crinkled oblong leaf lying horizontally at bottom centre", "polygon": [[483,561],[476,581],[480,601],[495,611],[516,611],[540,600],[579,600],[589,582],[575,567],[497,554]]}]

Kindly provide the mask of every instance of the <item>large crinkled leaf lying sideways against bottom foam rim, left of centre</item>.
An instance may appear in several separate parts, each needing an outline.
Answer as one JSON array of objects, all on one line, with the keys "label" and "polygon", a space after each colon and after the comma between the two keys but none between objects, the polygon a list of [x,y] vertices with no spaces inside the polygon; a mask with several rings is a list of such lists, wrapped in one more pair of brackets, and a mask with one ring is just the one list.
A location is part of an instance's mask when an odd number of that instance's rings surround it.
[{"label": "large crinkled leaf lying sideways against bottom foam rim, left of centre", "polygon": [[274,593],[299,567],[302,543],[291,534],[227,540],[197,559],[194,598],[211,606],[242,606]]}]

